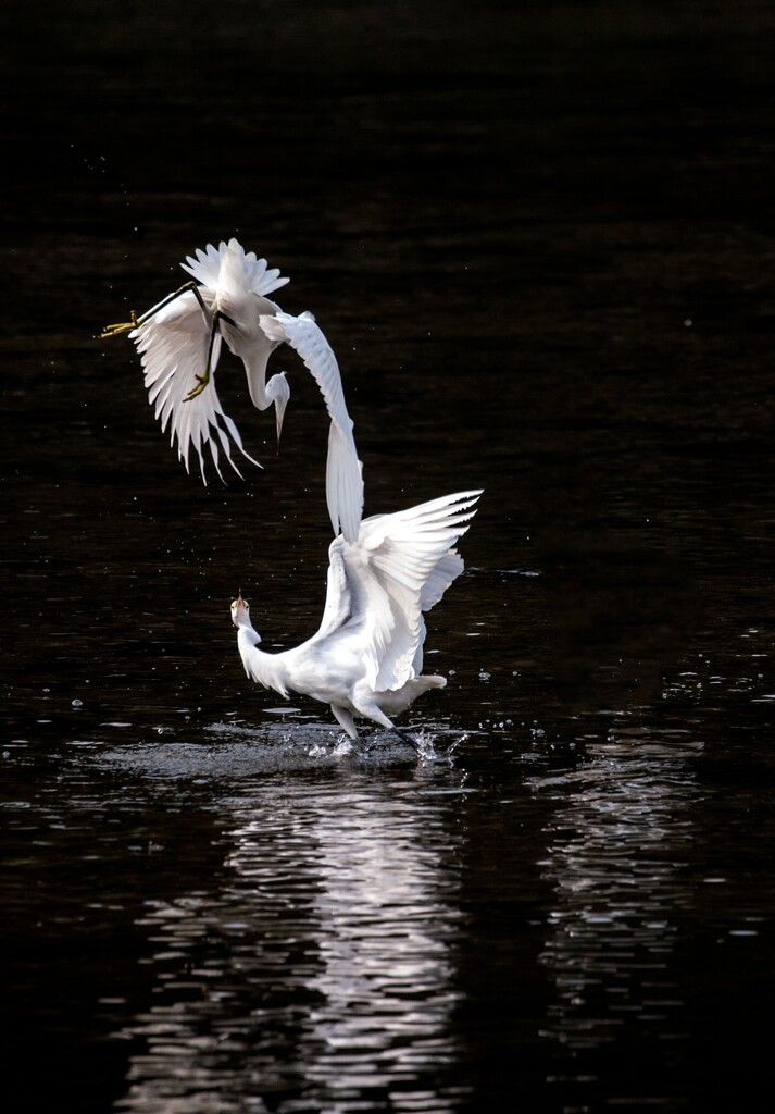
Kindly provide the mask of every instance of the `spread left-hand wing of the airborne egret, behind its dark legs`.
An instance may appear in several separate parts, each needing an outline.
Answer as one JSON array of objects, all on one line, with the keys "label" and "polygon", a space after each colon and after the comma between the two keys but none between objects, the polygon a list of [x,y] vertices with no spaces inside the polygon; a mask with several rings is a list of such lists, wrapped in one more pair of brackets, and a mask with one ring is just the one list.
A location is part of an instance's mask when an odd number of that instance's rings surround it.
[{"label": "spread left-hand wing of the airborne egret, behind its dark legs", "polygon": [[[199,287],[206,306],[213,304],[213,293]],[[252,463],[254,460],[243,448],[242,438],[232,419],[224,413],[215,389],[215,369],[220,354],[220,335],[216,333],[210,354],[210,381],[194,399],[188,399],[197,385],[207,364],[207,349],[210,341],[210,325],[206,320],[198,299],[192,291],[169,302],[157,313],[153,311],[145,324],[138,325],[129,334],[137,345],[145,369],[145,385],[148,401],[155,407],[161,430],[170,426],[170,444],[177,440],[178,458],[186,471],[189,470],[192,446],[199,457],[202,479],[205,477],[204,448],[207,446],[213,462],[223,479],[219,466],[219,450],[223,449],[232,468],[239,476],[239,469],[232,459],[230,441]],[[230,439],[230,441],[229,441]]]}]

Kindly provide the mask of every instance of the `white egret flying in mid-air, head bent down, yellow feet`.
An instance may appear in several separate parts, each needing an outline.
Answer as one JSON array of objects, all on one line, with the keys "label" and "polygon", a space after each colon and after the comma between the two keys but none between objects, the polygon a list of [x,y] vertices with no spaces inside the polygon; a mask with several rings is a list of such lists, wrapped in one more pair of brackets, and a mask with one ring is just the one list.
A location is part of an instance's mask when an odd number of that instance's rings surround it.
[{"label": "white egret flying in mid-air, head bent down, yellow feet", "polygon": [[[205,482],[204,447],[209,446],[220,475],[218,446],[232,460],[229,438],[243,448],[234,421],[224,413],[215,389],[215,370],[222,340],[245,365],[251,399],[258,410],[275,405],[277,439],[290,398],[284,372],[266,380],[269,355],[287,342],[296,349],[317,380],[332,419],[326,494],[334,534],[342,528],[351,540],[357,537],[363,506],[361,467],[353,441],[339,367],[331,348],[311,314],[284,314],[266,296],[288,282],[266,260],[246,253],[230,240],[217,248],[212,244],[182,264],[193,276],[179,290],[139,317],[108,325],[102,336],[128,332],[141,353],[148,399],[156,408],[161,429],[171,426],[170,444],[177,440],[178,457],[189,468],[192,446],[199,457]],[[261,465],[258,465],[261,467]]]}]

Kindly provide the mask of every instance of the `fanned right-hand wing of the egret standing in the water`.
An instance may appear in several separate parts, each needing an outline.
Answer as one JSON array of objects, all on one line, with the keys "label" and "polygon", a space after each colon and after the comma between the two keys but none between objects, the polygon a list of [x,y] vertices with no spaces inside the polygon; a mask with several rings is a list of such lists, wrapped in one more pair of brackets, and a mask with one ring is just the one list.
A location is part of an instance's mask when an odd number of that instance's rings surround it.
[{"label": "fanned right-hand wing of the egret standing in the water", "polygon": [[480,495],[459,491],[366,518],[357,544],[343,546],[347,603],[352,617],[364,625],[366,680],[375,692],[400,688],[422,672],[422,613],[463,571],[463,559],[452,547],[468,530]]}]

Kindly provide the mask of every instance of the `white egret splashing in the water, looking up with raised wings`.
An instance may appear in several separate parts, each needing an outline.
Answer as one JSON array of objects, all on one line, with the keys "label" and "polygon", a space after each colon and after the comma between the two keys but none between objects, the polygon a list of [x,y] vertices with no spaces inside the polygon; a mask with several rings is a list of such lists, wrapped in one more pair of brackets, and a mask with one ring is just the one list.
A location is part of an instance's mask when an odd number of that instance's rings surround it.
[{"label": "white egret splashing in the water, looking up with raised wings", "polygon": [[363,519],[355,541],[334,538],[320,629],[293,649],[258,648],[261,635],[241,592],[232,620],[247,676],[286,698],[295,692],[330,704],[351,739],[357,739],[354,716],[364,716],[416,746],[391,716],[447,684],[444,677],[422,675],[423,612],[463,571],[453,547],[480,495],[460,491],[376,515]]}]

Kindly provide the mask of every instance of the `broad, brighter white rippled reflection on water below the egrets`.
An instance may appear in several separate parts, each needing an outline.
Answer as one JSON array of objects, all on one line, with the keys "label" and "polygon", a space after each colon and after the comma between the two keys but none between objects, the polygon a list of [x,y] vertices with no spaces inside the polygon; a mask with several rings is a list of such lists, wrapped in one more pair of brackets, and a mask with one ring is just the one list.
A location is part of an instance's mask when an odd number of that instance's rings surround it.
[{"label": "broad, brighter white rippled reflection on water below the egrets", "polygon": [[155,1003],[122,1034],[143,1051],[118,1108],[459,1108],[443,813],[355,780],[254,786],[219,887],[149,907]]}]

